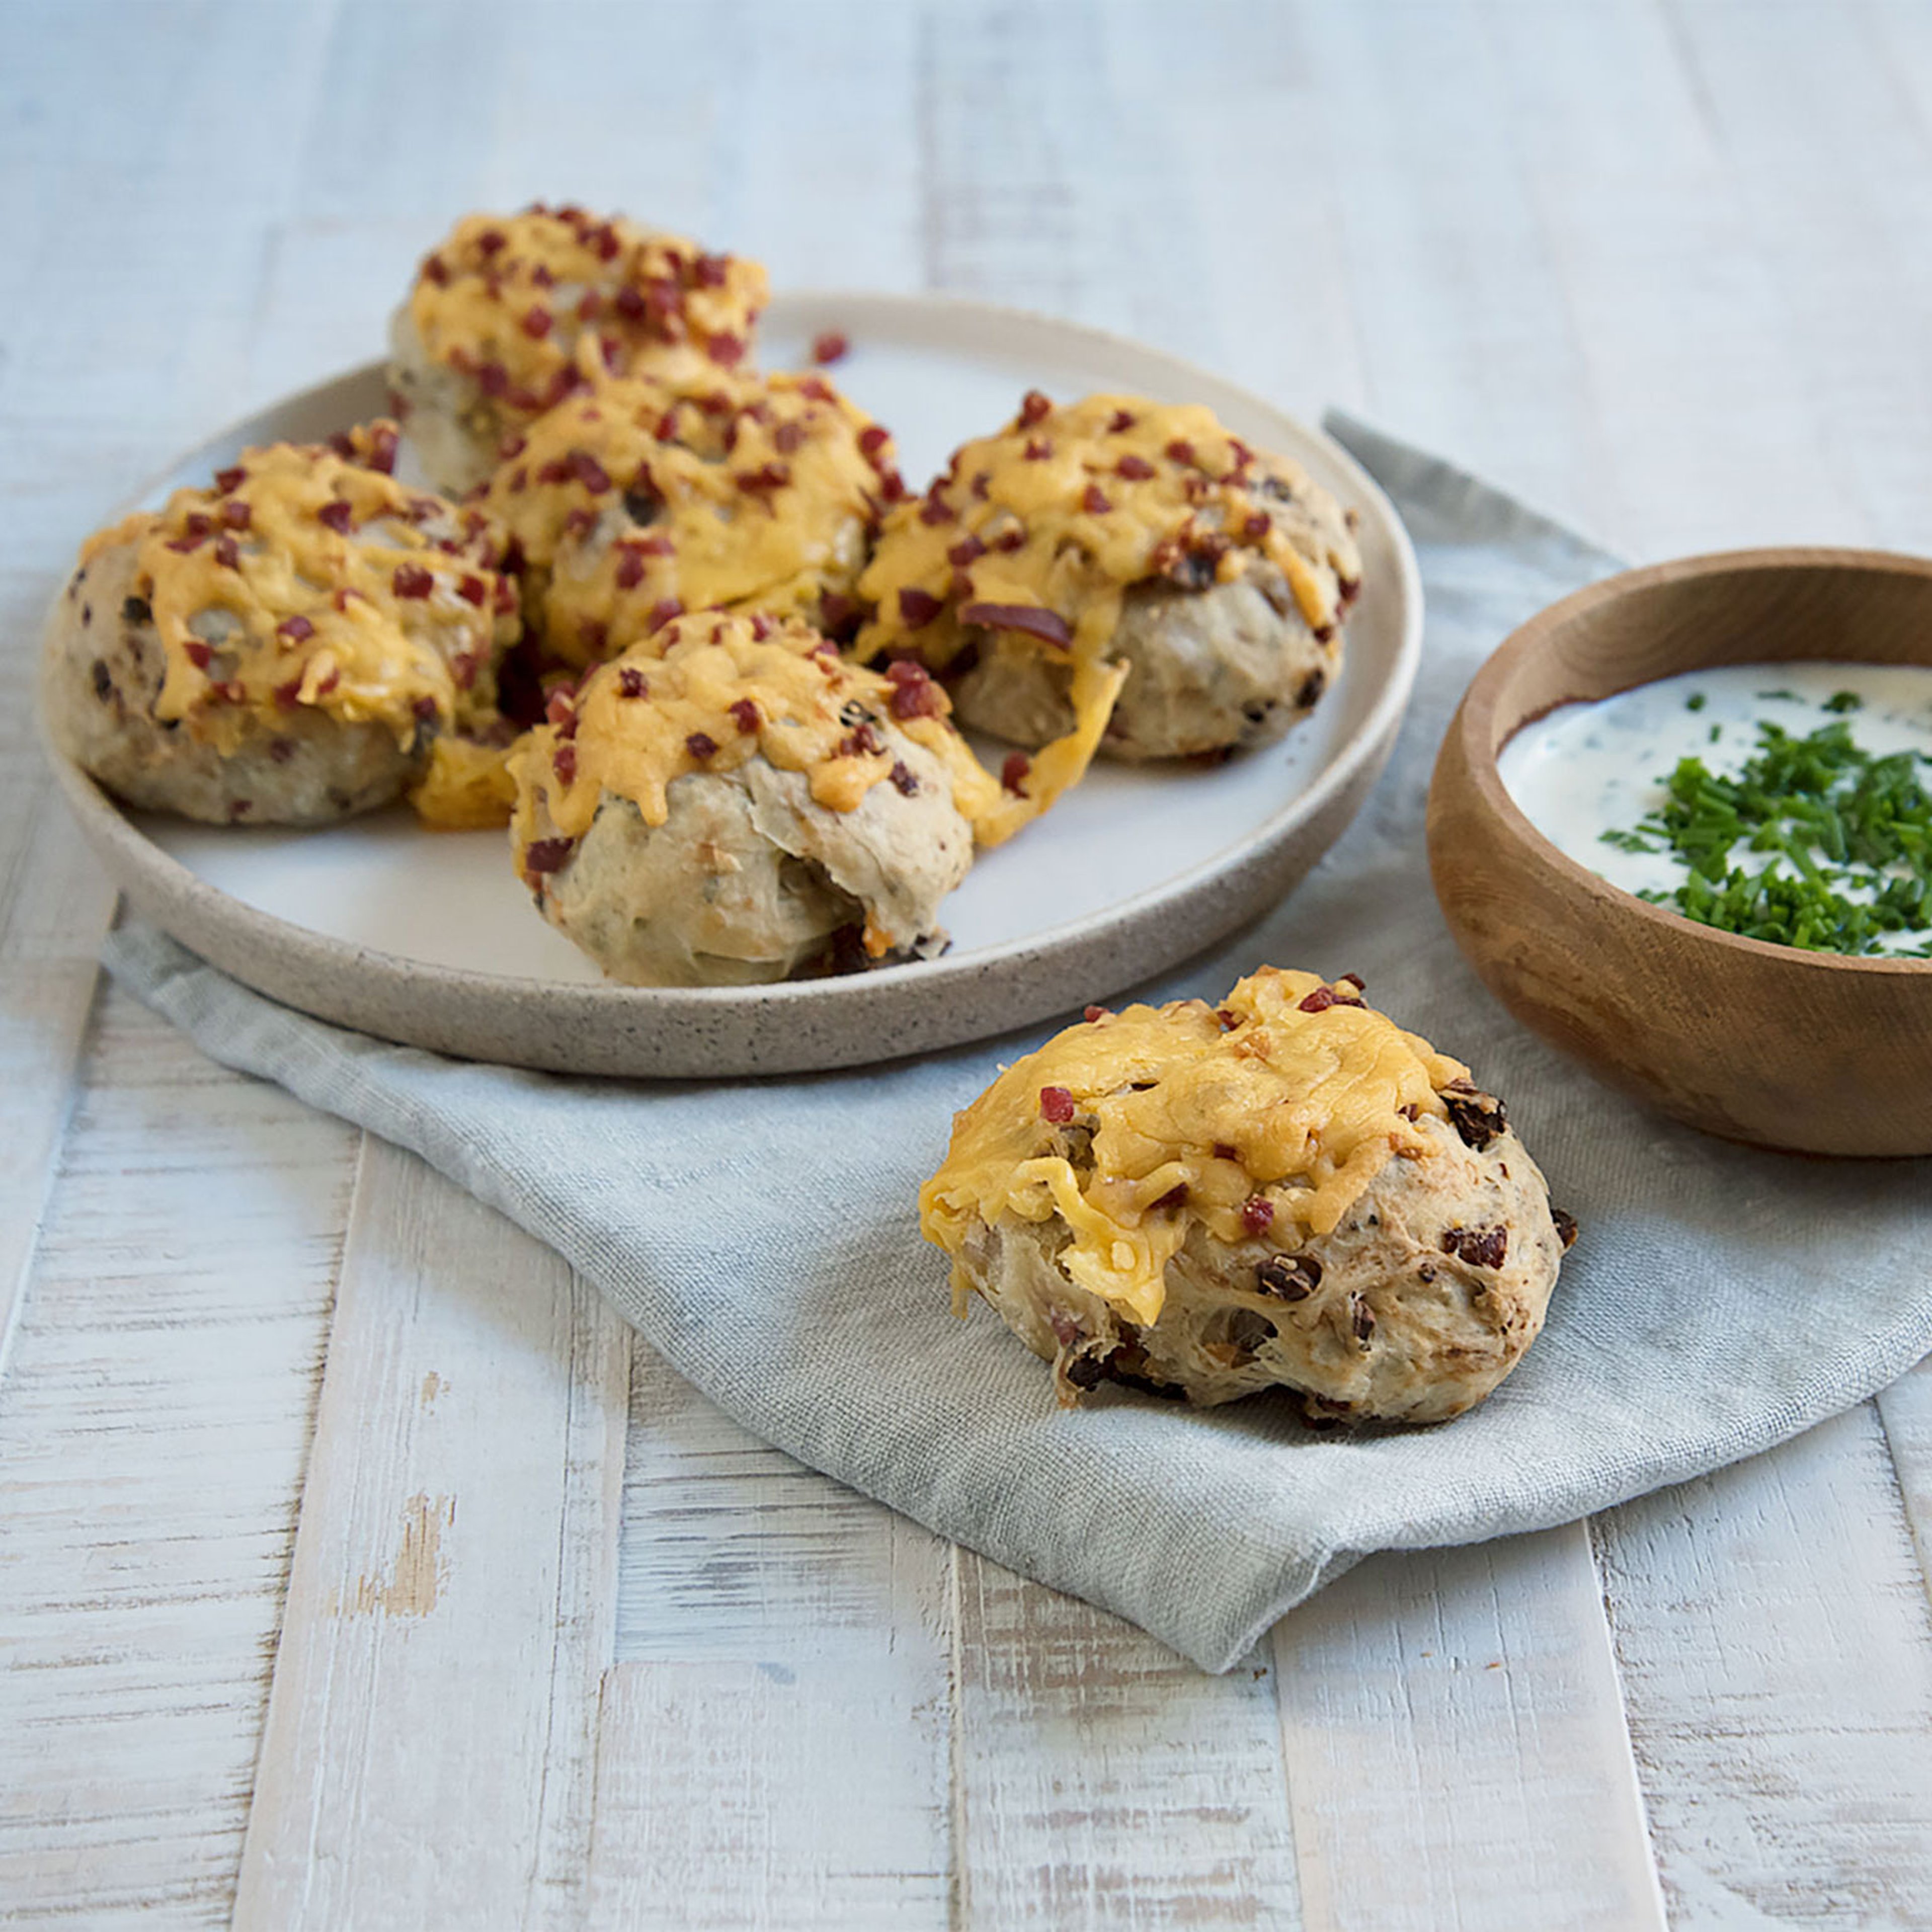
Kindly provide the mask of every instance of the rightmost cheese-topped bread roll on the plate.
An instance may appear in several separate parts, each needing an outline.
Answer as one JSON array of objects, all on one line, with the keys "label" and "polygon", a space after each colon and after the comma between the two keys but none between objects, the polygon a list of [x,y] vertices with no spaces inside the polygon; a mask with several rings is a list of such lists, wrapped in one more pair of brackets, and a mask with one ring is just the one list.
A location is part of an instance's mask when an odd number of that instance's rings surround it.
[{"label": "rightmost cheese-topped bread roll on the plate", "polygon": [[1211,410],[1034,390],[887,518],[860,653],[916,651],[962,723],[1047,746],[1034,782],[1065,786],[1094,746],[1279,738],[1333,680],[1360,578],[1335,498]]}]

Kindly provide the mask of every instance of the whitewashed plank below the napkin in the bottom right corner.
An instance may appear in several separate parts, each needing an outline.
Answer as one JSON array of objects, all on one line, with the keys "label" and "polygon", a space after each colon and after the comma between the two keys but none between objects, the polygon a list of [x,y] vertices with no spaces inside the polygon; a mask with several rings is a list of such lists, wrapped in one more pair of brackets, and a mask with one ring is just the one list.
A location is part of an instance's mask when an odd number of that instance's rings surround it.
[{"label": "whitewashed plank below the napkin in the bottom right corner", "polygon": [[1872,1406],[1596,1536],[1673,1920],[1932,1924],[1932,1605]]}]

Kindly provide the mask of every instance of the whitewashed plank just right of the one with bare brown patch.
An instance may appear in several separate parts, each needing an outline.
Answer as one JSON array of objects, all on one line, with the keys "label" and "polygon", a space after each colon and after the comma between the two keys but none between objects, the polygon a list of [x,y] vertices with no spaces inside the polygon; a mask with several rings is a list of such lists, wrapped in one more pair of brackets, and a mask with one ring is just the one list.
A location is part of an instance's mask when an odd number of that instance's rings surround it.
[{"label": "whitewashed plank just right of the one with bare brown patch", "polygon": [[593,1918],[947,1924],[949,1582],[639,1345]]}]

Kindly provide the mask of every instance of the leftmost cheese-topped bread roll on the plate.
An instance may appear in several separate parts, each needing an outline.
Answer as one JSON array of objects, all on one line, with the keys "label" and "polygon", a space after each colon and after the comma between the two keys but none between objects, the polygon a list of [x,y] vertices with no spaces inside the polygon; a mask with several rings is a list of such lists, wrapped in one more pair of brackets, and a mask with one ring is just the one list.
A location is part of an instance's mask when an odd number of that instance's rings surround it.
[{"label": "leftmost cheese-topped bread roll on the plate", "polygon": [[91,537],[46,628],[60,750],[131,806],[319,825],[487,726],[518,634],[502,535],[394,456],[394,423],[245,450]]}]

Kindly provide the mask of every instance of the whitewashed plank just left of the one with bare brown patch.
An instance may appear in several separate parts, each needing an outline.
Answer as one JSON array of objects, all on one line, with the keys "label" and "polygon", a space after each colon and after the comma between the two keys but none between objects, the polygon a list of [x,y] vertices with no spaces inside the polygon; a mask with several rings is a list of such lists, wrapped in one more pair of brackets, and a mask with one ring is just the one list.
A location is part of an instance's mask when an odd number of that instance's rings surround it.
[{"label": "whitewashed plank just left of the one with bare brown patch", "polygon": [[104,997],[0,1385],[23,1922],[228,1920],[352,1163],[342,1122]]}]

